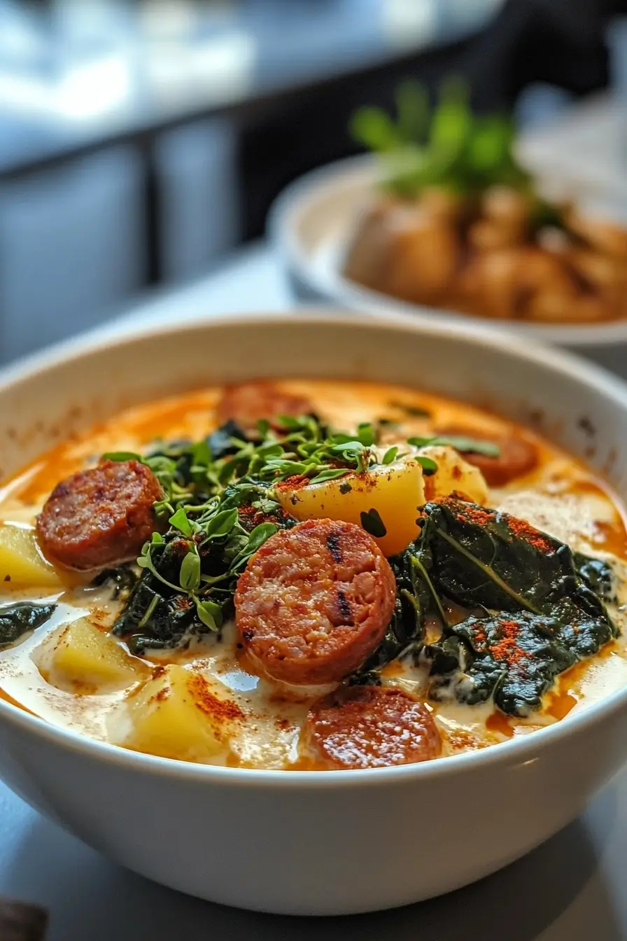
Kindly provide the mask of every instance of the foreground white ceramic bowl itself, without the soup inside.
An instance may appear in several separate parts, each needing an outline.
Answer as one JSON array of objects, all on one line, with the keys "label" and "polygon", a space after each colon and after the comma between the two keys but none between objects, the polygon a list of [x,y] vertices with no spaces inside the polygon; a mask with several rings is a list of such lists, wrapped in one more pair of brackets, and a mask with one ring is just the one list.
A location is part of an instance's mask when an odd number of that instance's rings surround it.
[{"label": "foreground white ceramic bowl itself, without the soup inside", "polygon": [[[627,387],[618,379],[419,314],[257,315],[57,348],[0,378],[2,463],[15,470],[130,402],[290,375],[395,381],[497,407],[588,454],[627,493]],[[571,821],[626,758],[627,689],[474,754],[333,773],[153,758],[0,701],[0,774],[28,803],[165,885],[289,914],[368,911],[472,882]]]}]

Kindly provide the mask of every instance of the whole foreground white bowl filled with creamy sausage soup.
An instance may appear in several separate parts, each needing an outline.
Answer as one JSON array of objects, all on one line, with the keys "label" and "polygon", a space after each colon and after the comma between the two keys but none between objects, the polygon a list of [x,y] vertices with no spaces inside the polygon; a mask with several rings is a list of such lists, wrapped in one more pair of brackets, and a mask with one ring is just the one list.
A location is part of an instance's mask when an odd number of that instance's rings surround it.
[{"label": "whole foreground white bowl filled with creamy sausage soup", "polygon": [[611,376],[294,313],[71,346],[0,404],[0,772],[118,862],[267,911],[399,905],[627,758]]}]

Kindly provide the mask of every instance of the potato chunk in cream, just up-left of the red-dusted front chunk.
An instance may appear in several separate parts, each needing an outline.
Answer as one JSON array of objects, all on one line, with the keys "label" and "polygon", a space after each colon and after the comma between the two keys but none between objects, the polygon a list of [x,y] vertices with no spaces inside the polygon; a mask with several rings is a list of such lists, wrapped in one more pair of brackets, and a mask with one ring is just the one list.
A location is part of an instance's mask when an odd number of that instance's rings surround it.
[{"label": "potato chunk in cream, just up-left of the red-dusted front chunk", "polygon": [[52,686],[71,693],[111,693],[149,674],[147,664],[86,617],[55,630],[36,652],[35,661]]}]

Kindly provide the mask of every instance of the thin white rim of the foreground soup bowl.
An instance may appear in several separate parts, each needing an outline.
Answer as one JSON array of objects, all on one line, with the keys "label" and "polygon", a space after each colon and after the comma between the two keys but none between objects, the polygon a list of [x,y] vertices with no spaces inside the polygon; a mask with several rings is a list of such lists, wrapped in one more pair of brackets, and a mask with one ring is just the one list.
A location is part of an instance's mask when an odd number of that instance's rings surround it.
[{"label": "thin white rim of the foreground soup bowl", "polygon": [[[260,325],[285,327],[295,323],[304,326],[319,326],[323,329],[351,327],[370,331],[390,331],[412,334],[431,334],[434,337],[445,336],[456,342],[469,343],[484,348],[492,346],[509,358],[523,360],[531,365],[538,364],[550,368],[553,372],[575,380],[580,385],[599,391],[613,399],[627,412],[627,383],[618,376],[608,373],[600,366],[590,363],[572,353],[557,350],[541,343],[522,340],[511,344],[507,334],[501,331],[474,324],[465,323],[463,328],[451,322],[435,321],[425,313],[418,315],[372,316],[364,321],[356,321],[351,311],[330,311],[328,308],[300,308],[292,311],[255,312],[252,314],[210,315],[203,317],[187,316],[180,322],[170,325],[164,323],[143,324],[138,327],[124,328],[119,331],[107,331],[102,335],[92,331],[65,343],[24,358],[5,370],[0,370],[0,396],[13,385],[28,381],[42,372],[53,372],[56,368],[71,366],[77,359],[92,353],[106,354],[119,346],[142,343],[151,337],[173,338],[180,333],[211,333],[214,328],[245,329]],[[437,778],[441,774],[473,773],[493,764],[527,764],[538,759],[539,753],[551,742],[570,739],[585,731],[590,726],[603,723],[621,710],[627,710],[627,687],[615,693],[603,696],[586,709],[556,722],[534,730],[533,733],[499,742],[488,748],[460,755],[447,756],[443,760],[432,760],[414,764],[395,765],[384,768],[368,768],[345,771],[333,771],[332,774],[319,771],[284,771],[280,769],[231,768],[220,765],[197,764],[175,758],[161,758],[142,752],[132,751],[109,742],[90,739],[70,728],[55,726],[19,706],[14,706],[0,697],[0,724],[14,726],[35,738],[43,739],[61,750],[68,750],[86,759],[102,761],[104,764],[117,765],[122,770],[137,773],[156,774],[171,779],[184,779],[190,782],[205,782],[219,786],[262,787],[269,789],[335,789],[385,786],[406,779],[415,779],[416,784],[423,778]]]}]

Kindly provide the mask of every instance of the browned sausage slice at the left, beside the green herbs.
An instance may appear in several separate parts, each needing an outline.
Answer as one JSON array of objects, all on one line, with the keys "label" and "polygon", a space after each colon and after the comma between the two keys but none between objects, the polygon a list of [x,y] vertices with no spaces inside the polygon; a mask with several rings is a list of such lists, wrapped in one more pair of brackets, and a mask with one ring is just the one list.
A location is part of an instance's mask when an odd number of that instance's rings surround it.
[{"label": "browned sausage slice at the left, beside the green herbs", "polygon": [[155,529],[163,491],[139,461],[102,461],[61,481],[37,518],[44,554],[70,568],[102,568],[137,555]]}]

